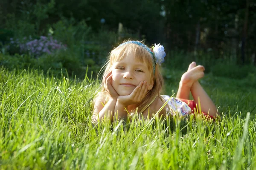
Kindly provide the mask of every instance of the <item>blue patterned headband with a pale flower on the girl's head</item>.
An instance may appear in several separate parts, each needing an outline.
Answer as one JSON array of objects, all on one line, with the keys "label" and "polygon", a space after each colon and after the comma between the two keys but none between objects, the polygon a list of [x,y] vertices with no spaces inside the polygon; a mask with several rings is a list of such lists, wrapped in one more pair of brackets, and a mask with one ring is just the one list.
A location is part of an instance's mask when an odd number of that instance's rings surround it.
[{"label": "blue patterned headband with a pale flower on the girl's head", "polygon": [[166,56],[166,53],[164,52],[163,45],[154,44],[154,47],[152,47],[153,51],[151,51],[151,49],[148,48],[147,45],[145,45],[139,41],[127,41],[127,42],[120,44],[119,46],[122,46],[125,44],[131,44],[131,43],[143,47],[145,50],[147,50],[149,52],[149,54],[151,54],[151,57],[153,58],[153,61],[154,61],[153,62],[153,72],[155,73],[156,65],[157,64],[161,65],[161,63],[164,62],[164,57]]}]

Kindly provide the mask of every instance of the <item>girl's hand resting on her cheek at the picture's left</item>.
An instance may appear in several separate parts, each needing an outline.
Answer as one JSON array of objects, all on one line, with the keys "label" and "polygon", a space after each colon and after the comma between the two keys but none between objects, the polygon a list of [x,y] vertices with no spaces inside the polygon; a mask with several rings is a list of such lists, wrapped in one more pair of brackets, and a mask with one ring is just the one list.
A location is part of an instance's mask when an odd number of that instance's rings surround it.
[{"label": "girl's hand resting on her cheek at the picture's left", "polygon": [[104,83],[104,88],[110,94],[110,96],[113,99],[117,99],[119,94],[116,92],[116,90],[113,88],[111,81],[112,81],[112,70],[108,71],[104,76],[103,76],[103,83]]}]

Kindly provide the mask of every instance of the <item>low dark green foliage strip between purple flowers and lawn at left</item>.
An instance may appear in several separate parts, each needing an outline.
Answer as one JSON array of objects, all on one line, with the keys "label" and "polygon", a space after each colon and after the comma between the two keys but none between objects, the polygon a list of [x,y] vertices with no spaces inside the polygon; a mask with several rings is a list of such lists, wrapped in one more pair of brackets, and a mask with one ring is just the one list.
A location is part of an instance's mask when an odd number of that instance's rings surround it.
[{"label": "low dark green foliage strip between purple flowers and lawn at left", "polygon": [[[58,51],[52,54],[45,54],[39,58],[34,58],[29,54],[3,55],[0,54],[0,65],[9,69],[40,69],[45,73],[50,69],[51,74],[59,77],[62,72],[67,71],[67,76],[76,75],[84,77],[86,67],[82,67],[78,57],[74,57],[72,51]],[[97,69],[93,67],[96,71]],[[99,69],[98,69],[99,70]],[[92,71],[90,69],[90,71]]]}]

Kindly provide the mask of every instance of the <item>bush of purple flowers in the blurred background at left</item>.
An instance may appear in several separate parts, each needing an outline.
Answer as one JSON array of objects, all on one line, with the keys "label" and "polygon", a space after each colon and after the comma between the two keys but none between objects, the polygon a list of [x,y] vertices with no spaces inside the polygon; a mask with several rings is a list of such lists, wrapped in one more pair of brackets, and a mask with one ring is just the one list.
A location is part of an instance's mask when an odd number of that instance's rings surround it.
[{"label": "bush of purple flowers in the blurred background at left", "polygon": [[[32,56],[39,57],[42,54],[52,54],[54,51],[59,49],[67,49],[67,45],[63,45],[58,40],[53,39],[52,36],[45,37],[41,36],[40,39],[32,40],[29,38],[29,41],[26,41],[26,37],[23,38],[23,42],[16,39],[10,39],[9,51],[12,51],[13,47],[19,48],[19,53],[24,54],[28,53]],[[12,47],[12,48],[11,48]]]}]

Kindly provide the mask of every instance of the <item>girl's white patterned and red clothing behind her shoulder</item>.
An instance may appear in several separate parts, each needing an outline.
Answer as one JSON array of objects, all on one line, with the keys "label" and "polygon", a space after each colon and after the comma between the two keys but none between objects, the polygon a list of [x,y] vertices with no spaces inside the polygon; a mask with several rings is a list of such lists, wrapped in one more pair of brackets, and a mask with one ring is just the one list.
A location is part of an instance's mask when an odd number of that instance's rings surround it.
[{"label": "girl's white patterned and red clothing behind her shoulder", "polygon": [[[180,116],[185,116],[191,113],[195,113],[195,110],[197,108],[195,101],[170,97],[168,95],[161,95],[161,96],[167,102],[167,107],[166,107],[167,113],[170,113],[171,115],[180,115]],[[213,118],[213,116],[209,116],[207,113],[202,112],[202,114],[209,118]]]}]

